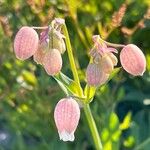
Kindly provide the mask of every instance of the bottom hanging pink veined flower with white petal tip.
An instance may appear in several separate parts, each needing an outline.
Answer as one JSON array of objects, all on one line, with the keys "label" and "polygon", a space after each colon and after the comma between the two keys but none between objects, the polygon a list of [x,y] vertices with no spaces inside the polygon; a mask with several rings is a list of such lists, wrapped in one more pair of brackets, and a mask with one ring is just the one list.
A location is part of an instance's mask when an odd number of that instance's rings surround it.
[{"label": "bottom hanging pink veined flower with white petal tip", "polygon": [[54,119],[60,140],[74,141],[74,132],[80,119],[78,103],[71,97],[61,99],[55,107]]}]

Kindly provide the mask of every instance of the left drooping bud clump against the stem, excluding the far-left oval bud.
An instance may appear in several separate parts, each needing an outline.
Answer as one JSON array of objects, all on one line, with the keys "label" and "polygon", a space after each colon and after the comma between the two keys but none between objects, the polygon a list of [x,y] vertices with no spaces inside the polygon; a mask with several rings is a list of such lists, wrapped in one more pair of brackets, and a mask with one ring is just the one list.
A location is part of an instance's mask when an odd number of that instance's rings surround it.
[{"label": "left drooping bud clump against the stem, excluding the far-left oval bud", "polygon": [[40,34],[39,48],[33,55],[37,64],[43,65],[48,75],[56,75],[62,68],[62,57],[66,50],[64,38],[61,33],[63,19],[56,18],[51,25]]}]

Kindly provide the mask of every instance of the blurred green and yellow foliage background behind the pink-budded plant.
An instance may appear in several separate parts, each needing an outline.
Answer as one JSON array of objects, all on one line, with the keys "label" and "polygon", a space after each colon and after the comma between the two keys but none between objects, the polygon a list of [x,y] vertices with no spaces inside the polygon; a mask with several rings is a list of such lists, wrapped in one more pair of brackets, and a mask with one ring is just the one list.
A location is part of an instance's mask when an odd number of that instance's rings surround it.
[{"label": "blurred green and yellow foliage background behind the pink-budded plant", "polygon": [[[115,24],[120,7],[126,13]],[[95,149],[82,110],[75,141],[59,140],[53,111],[64,93],[32,58],[19,61],[13,53],[21,26],[45,26],[55,17],[66,20],[83,86],[93,34],[109,42],[134,43],[143,50],[144,76],[133,77],[121,69],[97,90],[91,109],[104,150],[149,150],[149,0],[0,0],[0,150]],[[62,72],[72,77],[67,53],[63,60]]]}]

